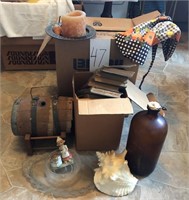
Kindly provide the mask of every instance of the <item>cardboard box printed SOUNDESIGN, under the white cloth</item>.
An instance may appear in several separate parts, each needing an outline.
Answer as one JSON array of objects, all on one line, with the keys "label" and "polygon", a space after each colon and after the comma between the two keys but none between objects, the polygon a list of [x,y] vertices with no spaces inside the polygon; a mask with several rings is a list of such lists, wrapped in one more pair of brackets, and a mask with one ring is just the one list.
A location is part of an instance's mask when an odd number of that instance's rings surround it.
[{"label": "cardboard box printed SOUNDESIGN, under the white cloth", "polygon": [[3,70],[56,69],[54,40],[37,58],[43,40],[31,37],[1,38],[1,66]]}]

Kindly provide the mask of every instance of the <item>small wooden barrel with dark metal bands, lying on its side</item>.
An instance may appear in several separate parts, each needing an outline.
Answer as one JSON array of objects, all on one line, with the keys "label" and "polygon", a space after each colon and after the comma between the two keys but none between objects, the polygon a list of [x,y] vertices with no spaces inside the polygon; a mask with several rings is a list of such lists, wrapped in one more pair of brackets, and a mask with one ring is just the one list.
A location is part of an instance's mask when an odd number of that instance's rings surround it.
[{"label": "small wooden barrel with dark metal bands, lying on its side", "polygon": [[12,108],[12,132],[16,136],[53,136],[71,132],[72,108],[70,97],[20,97]]}]

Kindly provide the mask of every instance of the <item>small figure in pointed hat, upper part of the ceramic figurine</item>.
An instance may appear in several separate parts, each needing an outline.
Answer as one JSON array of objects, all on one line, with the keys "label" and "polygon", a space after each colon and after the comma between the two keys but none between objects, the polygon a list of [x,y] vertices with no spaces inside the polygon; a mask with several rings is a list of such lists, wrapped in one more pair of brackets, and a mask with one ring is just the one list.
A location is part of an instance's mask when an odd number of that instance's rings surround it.
[{"label": "small figure in pointed hat, upper part of the ceramic figurine", "polygon": [[69,152],[67,145],[64,144],[65,140],[63,140],[61,137],[57,137],[56,144],[59,147],[59,151],[62,157],[63,163],[73,163],[73,157],[72,154]]}]

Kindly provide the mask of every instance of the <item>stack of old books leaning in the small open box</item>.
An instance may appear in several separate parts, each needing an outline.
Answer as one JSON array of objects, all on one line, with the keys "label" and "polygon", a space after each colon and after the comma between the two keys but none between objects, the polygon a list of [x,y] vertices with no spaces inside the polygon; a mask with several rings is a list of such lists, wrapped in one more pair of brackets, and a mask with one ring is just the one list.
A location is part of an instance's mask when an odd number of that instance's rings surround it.
[{"label": "stack of old books leaning in the small open box", "polygon": [[127,97],[127,80],[135,72],[124,68],[103,66],[88,80],[85,86],[77,92],[80,98],[125,98]]}]

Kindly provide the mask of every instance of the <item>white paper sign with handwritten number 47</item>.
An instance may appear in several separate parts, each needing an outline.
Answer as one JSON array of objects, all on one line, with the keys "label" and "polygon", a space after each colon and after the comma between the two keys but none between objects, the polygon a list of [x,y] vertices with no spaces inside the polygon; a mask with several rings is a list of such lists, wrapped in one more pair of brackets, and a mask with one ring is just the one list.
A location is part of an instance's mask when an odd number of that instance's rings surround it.
[{"label": "white paper sign with handwritten number 47", "polygon": [[103,65],[109,65],[110,39],[90,40],[90,71],[95,71]]}]

